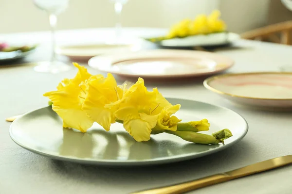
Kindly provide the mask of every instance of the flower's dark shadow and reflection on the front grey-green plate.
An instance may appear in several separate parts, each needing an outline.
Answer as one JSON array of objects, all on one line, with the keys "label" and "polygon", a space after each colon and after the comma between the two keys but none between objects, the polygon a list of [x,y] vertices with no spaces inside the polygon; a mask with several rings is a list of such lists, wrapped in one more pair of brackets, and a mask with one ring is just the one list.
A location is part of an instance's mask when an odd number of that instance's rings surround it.
[{"label": "flower's dark shadow and reflection on the front grey-green plate", "polygon": [[59,154],[96,160],[134,160],[136,162],[187,155],[217,148],[219,145],[179,144],[169,140],[136,142],[126,131],[91,129],[86,133],[63,129]]}]

